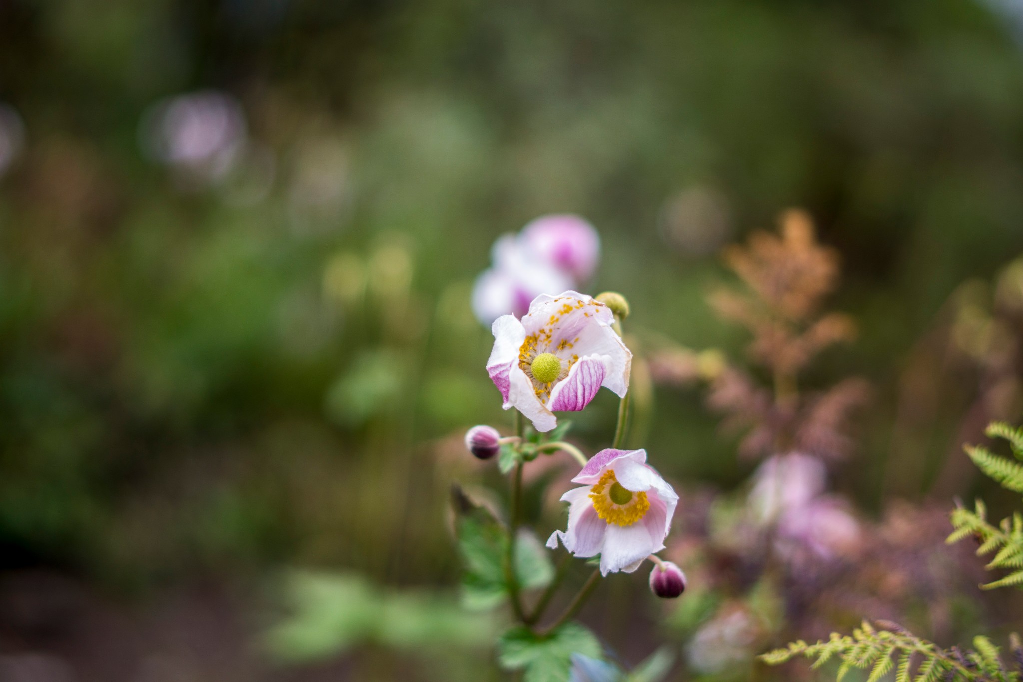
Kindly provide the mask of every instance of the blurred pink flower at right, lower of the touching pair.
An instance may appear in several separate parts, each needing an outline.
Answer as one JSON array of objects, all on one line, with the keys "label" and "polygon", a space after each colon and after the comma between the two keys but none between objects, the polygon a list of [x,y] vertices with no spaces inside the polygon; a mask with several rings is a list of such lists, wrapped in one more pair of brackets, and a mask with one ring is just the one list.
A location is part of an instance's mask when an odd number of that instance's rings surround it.
[{"label": "blurred pink flower at right, lower of the touching pair", "polygon": [[858,547],[859,521],[848,505],[837,497],[822,496],[803,506],[789,509],[779,519],[775,545],[790,559],[810,557],[831,559]]}]

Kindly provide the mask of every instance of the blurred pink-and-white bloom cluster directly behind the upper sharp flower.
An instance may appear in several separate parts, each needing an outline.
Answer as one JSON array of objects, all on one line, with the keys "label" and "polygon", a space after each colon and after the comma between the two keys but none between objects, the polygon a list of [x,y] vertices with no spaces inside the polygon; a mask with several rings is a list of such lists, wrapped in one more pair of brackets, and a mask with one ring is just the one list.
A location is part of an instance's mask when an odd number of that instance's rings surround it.
[{"label": "blurred pink-and-white bloom cluster directly behind the upper sharp flower", "polygon": [[582,288],[599,263],[601,237],[579,216],[542,216],[519,234],[501,235],[490,258],[473,287],[473,313],[486,325],[501,315],[521,318],[541,293]]}]

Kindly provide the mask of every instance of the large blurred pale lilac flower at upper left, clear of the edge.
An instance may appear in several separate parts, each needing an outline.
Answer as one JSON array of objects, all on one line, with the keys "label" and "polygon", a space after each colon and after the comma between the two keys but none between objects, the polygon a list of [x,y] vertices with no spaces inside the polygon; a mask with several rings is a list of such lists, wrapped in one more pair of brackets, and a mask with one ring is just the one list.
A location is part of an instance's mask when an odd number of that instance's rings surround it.
[{"label": "large blurred pale lilac flower at upper left, clear of the edge", "polygon": [[246,145],[246,119],[230,95],[204,90],[158,102],[144,117],[142,145],[157,161],[222,179]]}]

